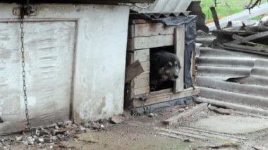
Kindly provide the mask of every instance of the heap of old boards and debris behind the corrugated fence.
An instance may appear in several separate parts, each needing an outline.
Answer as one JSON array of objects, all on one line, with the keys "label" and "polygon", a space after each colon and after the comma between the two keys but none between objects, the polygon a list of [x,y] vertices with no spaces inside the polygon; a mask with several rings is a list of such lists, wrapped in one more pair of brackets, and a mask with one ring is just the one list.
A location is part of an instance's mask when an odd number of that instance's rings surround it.
[{"label": "heap of old boards and debris behind the corrugated fence", "polygon": [[[214,49],[268,55],[268,16],[252,25],[245,25],[242,22],[240,26],[233,26],[233,23],[229,22],[227,27],[213,30],[212,35],[217,39],[212,38],[209,45],[207,44],[208,39],[205,42],[200,40],[200,42],[204,42],[204,45]],[[204,39],[204,37],[197,35],[197,39]]]}]

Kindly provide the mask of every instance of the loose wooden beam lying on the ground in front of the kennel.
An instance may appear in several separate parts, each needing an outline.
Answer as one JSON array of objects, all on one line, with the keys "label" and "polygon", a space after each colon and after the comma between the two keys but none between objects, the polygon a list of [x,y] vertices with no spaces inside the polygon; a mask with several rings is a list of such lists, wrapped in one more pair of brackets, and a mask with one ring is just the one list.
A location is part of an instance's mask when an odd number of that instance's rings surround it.
[{"label": "loose wooden beam lying on the ground in front of the kennel", "polygon": [[190,115],[193,115],[197,112],[203,111],[205,108],[207,108],[207,103],[199,104],[193,108],[190,108],[187,111],[184,111],[183,113],[179,113],[178,115],[174,115],[173,117],[171,117],[167,120],[164,120],[163,124],[164,125],[173,125],[173,124],[177,123],[179,119],[188,118]]}]

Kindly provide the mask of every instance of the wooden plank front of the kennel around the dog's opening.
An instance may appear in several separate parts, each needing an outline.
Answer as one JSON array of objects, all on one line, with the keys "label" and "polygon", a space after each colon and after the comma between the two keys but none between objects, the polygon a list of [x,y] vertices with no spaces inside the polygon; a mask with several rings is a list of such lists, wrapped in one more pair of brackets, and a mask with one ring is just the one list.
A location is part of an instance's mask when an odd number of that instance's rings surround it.
[{"label": "wooden plank front of the kennel around the dog's opening", "polygon": [[[178,56],[181,71],[171,88],[150,91],[150,57],[157,49],[171,49]],[[185,24],[165,26],[152,20],[130,20],[126,65],[139,60],[145,70],[126,84],[125,108],[139,108],[165,101],[193,96],[197,89],[185,89]],[[190,70],[189,70],[190,72]]]}]

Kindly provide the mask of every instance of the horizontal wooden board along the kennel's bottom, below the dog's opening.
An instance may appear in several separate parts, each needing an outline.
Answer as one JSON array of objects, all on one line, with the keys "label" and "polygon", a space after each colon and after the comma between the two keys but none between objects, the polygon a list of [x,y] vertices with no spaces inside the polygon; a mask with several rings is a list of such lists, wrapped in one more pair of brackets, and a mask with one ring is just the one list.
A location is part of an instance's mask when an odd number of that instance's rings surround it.
[{"label": "horizontal wooden board along the kennel's bottom, below the dog's opening", "polygon": [[[135,90],[137,90],[137,89],[135,89]],[[152,105],[152,104],[158,104],[158,103],[162,103],[165,101],[171,101],[174,99],[181,99],[183,97],[193,96],[193,95],[197,95],[199,93],[200,93],[200,89],[189,88],[189,89],[184,89],[183,92],[179,92],[176,94],[174,94],[173,92],[170,92],[170,93],[166,93],[166,94],[158,94],[158,95],[148,96],[147,100],[145,102],[140,101],[140,99],[133,99],[133,108],[138,108],[141,106],[148,106],[148,105]]]}]

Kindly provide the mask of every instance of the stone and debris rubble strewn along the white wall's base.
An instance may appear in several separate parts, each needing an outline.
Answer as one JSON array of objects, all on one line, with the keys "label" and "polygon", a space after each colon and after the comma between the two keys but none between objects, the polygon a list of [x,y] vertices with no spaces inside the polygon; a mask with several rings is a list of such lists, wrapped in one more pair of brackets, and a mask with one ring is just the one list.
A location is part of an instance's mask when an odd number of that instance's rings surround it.
[{"label": "stone and debris rubble strewn along the white wall's base", "polygon": [[109,120],[99,120],[97,122],[83,123],[83,125],[75,125],[71,120],[66,120],[49,125],[49,127],[39,127],[32,131],[32,135],[23,133],[23,135],[15,137],[0,136],[0,149],[8,149],[11,145],[16,144],[36,146],[49,144],[51,146],[57,144],[57,142],[78,139],[78,134],[83,132],[106,130],[106,127],[112,125],[111,123]]}]

